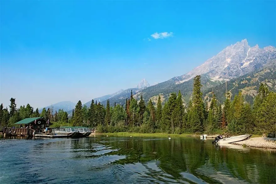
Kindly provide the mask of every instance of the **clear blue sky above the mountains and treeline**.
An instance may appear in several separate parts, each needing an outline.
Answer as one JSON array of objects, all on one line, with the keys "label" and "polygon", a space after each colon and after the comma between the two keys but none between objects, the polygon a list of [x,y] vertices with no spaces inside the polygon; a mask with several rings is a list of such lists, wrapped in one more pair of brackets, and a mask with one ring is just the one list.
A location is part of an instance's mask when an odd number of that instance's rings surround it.
[{"label": "clear blue sky above the mountains and treeline", "polygon": [[166,81],[245,38],[275,46],[275,17],[275,1],[1,1],[1,103]]}]

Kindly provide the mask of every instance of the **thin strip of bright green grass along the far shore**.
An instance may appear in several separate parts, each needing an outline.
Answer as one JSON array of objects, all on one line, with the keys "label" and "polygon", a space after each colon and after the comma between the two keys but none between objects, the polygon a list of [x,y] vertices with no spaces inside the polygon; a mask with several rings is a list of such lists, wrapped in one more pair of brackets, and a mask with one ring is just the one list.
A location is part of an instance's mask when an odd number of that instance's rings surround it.
[{"label": "thin strip of bright green grass along the far shore", "polygon": [[118,133],[102,133],[107,136],[135,136],[135,137],[186,137],[186,136],[199,136],[196,134],[167,134],[167,133],[130,133],[130,132],[118,132]]}]

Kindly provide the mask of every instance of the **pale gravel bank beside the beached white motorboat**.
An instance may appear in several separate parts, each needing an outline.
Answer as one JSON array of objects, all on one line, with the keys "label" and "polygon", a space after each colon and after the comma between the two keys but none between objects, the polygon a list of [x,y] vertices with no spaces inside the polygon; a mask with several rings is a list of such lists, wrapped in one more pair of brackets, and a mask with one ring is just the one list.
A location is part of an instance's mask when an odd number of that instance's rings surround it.
[{"label": "pale gravel bank beside the beached white motorboat", "polygon": [[256,147],[256,148],[276,149],[276,138],[252,137],[244,141],[233,142],[232,144],[246,145],[248,147]]}]

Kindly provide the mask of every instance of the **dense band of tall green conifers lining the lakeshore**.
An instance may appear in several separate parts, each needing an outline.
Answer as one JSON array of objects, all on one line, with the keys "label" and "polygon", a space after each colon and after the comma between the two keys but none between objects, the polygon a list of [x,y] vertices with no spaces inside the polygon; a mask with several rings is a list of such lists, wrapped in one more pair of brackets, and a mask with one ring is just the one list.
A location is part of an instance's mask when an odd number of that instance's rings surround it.
[{"label": "dense band of tall green conifers lining the lakeshore", "polygon": [[[109,104],[106,108],[99,102],[91,101],[90,107],[82,107],[79,101],[68,120],[68,114],[63,110],[52,113],[51,109],[38,109],[27,104],[16,109],[15,99],[11,98],[10,111],[1,105],[1,126],[12,125],[26,117],[41,116],[50,119],[53,126],[73,125],[98,127],[99,132],[141,132],[141,133],[222,133],[231,134],[268,134],[276,130],[276,93],[261,83],[253,106],[247,103],[241,92],[230,99],[229,93],[220,103],[216,94],[212,93],[212,100],[204,104],[201,92],[201,76],[194,78],[193,93],[187,108],[183,105],[180,91],[171,93],[166,102],[159,95],[157,107],[150,99],[146,103],[140,96],[137,101],[131,92],[126,99],[125,106]],[[53,114],[53,115],[52,115]]]}]

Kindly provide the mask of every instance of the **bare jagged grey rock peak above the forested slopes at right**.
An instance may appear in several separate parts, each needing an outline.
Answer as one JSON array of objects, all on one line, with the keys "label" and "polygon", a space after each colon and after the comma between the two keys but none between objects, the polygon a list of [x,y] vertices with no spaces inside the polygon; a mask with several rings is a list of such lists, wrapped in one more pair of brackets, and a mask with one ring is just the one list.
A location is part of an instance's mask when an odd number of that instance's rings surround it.
[{"label": "bare jagged grey rock peak above the forested slopes at right", "polygon": [[226,47],[187,74],[174,77],[173,80],[179,84],[202,74],[207,74],[213,81],[229,80],[256,70],[273,59],[276,59],[275,47],[250,47],[244,39]]}]

